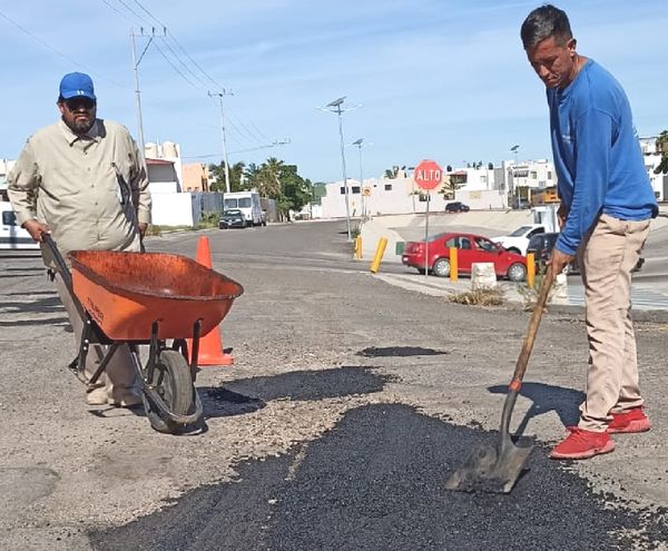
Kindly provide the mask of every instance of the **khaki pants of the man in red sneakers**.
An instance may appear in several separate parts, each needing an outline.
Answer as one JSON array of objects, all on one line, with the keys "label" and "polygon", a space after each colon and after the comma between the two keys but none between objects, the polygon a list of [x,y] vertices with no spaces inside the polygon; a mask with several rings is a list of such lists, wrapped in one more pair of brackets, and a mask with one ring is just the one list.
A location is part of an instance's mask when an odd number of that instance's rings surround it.
[{"label": "khaki pants of the man in red sneakers", "polygon": [[648,233],[649,220],[601,215],[578,252],[590,354],[580,429],[605,432],[610,412],[644,403],[631,319],[631,270]]}]

